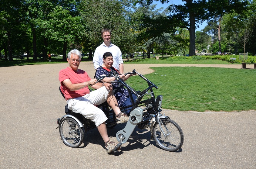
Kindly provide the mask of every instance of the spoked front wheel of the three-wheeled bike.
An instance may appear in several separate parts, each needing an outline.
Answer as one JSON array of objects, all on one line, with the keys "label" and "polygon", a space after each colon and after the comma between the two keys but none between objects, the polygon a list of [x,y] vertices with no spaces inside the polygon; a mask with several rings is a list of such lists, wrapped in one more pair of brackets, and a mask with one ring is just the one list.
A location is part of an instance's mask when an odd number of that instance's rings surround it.
[{"label": "spoked front wheel of the three-wheeled bike", "polygon": [[153,126],[153,138],[158,146],[166,151],[177,151],[181,148],[184,140],[183,132],[179,125],[171,119],[162,120],[162,132],[159,124],[156,122]]}]

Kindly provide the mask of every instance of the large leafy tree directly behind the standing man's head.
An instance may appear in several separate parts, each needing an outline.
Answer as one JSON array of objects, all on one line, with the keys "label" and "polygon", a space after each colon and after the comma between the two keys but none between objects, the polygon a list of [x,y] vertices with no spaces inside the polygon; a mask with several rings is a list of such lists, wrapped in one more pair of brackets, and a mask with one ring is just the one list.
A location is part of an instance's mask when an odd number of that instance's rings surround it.
[{"label": "large leafy tree directly behind the standing man's head", "polygon": [[102,43],[100,32],[104,28],[111,30],[111,42],[122,52],[126,46],[131,46],[132,32],[127,6],[127,1],[82,0],[81,17],[86,25],[86,35],[82,44],[84,48],[89,49],[89,59],[92,59],[92,51]]}]

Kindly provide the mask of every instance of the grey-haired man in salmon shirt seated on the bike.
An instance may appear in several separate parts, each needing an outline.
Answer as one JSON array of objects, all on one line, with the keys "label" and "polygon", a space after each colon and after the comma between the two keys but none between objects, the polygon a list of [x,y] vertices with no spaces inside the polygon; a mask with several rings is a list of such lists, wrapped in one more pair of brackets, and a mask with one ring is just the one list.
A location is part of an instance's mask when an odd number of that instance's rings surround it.
[{"label": "grey-haired man in salmon shirt seated on the bike", "polygon": [[[78,69],[81,57],[81,52],[77,49],[73,49],[68,53],[67,61],[69,66],[59,72],[61,91],[71,111],[80,113],[95,123],[105,142],[107,152],[111,153],[119,149],[121,144],[110,141],[105,124],[107,117],[100,108],[94,105],[100,105],[107,101],[112,110],[114,110],[119,123],[127,122],[129,117],[124,117],[121,113],[117,99],[112,92],[113,86],[110,83],[96,83],[97,79],[91,79],[84,70]],[[90,92],[88,85],[97,90]]]}]

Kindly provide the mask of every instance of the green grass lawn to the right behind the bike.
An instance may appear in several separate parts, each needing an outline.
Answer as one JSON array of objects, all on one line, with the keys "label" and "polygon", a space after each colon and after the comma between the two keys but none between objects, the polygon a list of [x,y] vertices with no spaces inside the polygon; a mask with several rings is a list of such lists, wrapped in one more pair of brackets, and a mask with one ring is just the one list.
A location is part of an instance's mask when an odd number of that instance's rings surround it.
[{"label": "green grass lawn to the right behind the bike", "polygon": [[[256,110],[256,70],[231,68],[158,67],[145,75],[163,95],[162,108],[180,111]],[[144,90],[139,76],[127,80],[135,90]]]}]

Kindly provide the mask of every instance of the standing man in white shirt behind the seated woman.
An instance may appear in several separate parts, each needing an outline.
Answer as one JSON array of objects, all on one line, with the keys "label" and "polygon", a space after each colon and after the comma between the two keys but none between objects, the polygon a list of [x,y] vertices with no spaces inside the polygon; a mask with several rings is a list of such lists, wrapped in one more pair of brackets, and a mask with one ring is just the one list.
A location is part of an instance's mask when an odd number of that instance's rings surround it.
[{"label": "standing man in white shirt behind the seated woman", "polygon": [[118,46],[111,43],[111,30],[103,29],[101,31],[101,37],[103,39],[103,43],[96,48],[93,56],[94,68],[98,69],[98,67],[103,64],[103,54],[105,52],[111,52],[114,60],[114,64],[112,66],[123,74],[124,62],[122,59],[122,52],[120,51]]}]

